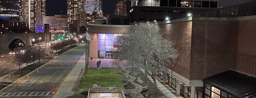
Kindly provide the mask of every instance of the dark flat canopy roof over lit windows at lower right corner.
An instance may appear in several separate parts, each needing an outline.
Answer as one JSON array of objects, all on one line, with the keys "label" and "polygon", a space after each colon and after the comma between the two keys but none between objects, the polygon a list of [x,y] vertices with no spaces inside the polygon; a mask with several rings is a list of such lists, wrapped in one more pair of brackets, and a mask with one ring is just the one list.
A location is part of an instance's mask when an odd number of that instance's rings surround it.
[{"label": "dark flat canopy roof over lit windows at lower right corner", "polygon": [[235,71],[228,70],[207,77],[203,82],[211,84],[226,93],[231,93],[236,97],[256,97],[256,78]]}]

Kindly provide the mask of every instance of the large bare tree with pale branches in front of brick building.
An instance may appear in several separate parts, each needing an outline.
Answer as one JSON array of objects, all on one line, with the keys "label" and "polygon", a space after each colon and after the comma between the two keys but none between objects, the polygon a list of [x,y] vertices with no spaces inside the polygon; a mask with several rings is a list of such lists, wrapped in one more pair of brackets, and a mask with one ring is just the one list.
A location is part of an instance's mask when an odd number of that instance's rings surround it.
[{"label": "large bare tree with pale branches in front of brick building", "polygon": [[113,63],[122,67],[145,69],[145,73],[153,79],[156,91],[157,70],[168,68],[172,60],[178,57],[173,47],[175,43],[172,39],[163,38],[162,35],[160,27],[153,23],[139,23],[129,27],[124,35],[114,41],[120,54]]}]

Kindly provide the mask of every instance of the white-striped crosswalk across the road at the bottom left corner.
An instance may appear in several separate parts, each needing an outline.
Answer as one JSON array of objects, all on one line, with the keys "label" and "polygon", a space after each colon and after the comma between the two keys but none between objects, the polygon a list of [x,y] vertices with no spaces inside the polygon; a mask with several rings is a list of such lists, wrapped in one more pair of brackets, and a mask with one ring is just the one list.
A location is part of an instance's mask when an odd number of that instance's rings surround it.
[{"label": "white-striped crosswalk across the road at the bottom left corner", "polygon": [[[53,91],[53,94],[55,91]],[[51,91],[47,92],[12,92],[12,93],[0,93],[0,97],[13,97],[13,96],[49,96],[52,95]]]}]

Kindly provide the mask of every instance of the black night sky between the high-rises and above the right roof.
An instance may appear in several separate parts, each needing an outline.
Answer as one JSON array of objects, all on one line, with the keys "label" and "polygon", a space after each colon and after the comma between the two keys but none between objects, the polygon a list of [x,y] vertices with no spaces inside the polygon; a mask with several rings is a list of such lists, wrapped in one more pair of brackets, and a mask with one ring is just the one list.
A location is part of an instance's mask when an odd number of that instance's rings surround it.
[{"label": "black night sky between the high-rises and above the right roof", "polygon": [[[115,4],[123,0],[103,0],[103,14],[113,14]],[[252,0],[220,0],[219,7],[227,7]],[[46,0],[46,16],[67,15],[67,0]]]}]

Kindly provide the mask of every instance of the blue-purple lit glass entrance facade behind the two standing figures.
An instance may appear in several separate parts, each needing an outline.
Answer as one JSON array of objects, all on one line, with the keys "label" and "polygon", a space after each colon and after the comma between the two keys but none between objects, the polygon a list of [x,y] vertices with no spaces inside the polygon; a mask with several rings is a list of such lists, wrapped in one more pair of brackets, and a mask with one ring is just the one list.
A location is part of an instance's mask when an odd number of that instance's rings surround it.
[{"label": "blue-purple lit glass entrance facade behind the two standing figures", "polygon": [[118,51],[113,41],[123,34],[99,34],[98,35],[98,59],[113,59],[113,53]]}]

